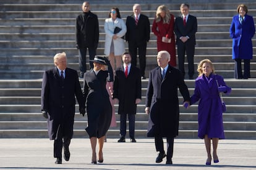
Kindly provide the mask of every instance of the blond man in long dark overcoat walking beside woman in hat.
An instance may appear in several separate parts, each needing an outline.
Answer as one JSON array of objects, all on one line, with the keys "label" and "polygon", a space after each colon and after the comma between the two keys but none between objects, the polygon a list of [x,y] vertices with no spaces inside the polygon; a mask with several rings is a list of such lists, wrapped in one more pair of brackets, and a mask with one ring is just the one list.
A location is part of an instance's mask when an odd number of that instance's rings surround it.
[{"label": "blond man in long dark overcoat walking beside woman in hat", "polygon": [[45,71],[41,89],[41,110],[47,118],[48,136],[54,140],[56,164],[69,161],[69,144],[73,136],[75,97],[79,102],[80,114],[85,114],[85,99],[81,91],[77,71],[67,68],[66,53],[54,56],[55,68]]}]

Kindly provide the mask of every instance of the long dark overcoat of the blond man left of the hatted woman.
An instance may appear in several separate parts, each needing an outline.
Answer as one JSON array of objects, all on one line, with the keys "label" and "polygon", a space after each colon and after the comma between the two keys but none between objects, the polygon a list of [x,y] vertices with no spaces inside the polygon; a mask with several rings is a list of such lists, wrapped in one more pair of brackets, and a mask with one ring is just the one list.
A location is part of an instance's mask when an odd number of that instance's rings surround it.
[{"label": "long dark overcoat of the blond man left of the hatted woman", "polygon": [[65,70],[62,81],[58,69],[53,68],[43,74],[41,89],[41,110],[48,111],[48,136],[50,140],[57,138],[59,126],[64,128],[64,136],[73,136],[75,116],[75,97],[79,107],[85,107],[77,71],[70,68]]}]

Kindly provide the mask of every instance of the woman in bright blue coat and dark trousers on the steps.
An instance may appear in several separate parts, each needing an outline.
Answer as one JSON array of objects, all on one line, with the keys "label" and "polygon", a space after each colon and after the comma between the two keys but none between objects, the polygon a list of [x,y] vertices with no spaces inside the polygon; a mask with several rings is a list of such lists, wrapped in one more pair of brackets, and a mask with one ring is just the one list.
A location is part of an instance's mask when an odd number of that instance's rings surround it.
[{"label": "woman in bright blue coat and dark trousers on the steps", "polygon": [[[255,34],[254,18],[247,15],[247,6],[237,7],[238,15],[233,17],[229,32],[233,38],[233,57],[235,61],[234,78],[250,78],[250,59],[252,59],[252,37]],[[242,59],[244,59],[244,75],[242,75]]]}]

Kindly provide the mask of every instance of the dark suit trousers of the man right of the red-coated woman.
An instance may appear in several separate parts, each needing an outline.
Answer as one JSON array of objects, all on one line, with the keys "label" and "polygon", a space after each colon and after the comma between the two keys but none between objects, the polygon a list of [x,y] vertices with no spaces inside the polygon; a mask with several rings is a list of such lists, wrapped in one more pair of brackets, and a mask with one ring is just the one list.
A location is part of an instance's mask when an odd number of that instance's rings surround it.
[{"label": "dark suit trousers of the man right of the red-coated woman", "polygon": [[187,42],[182,42],[177,40],[177,54],[179,60],[179,70],[185,76],[184,62],[185,62],[185,52],[187,54],[187,62],[189,63],[189,77],[192,77],[195,73],[194,71],[194,54],[195,54],[195,45],[189,44]]}]

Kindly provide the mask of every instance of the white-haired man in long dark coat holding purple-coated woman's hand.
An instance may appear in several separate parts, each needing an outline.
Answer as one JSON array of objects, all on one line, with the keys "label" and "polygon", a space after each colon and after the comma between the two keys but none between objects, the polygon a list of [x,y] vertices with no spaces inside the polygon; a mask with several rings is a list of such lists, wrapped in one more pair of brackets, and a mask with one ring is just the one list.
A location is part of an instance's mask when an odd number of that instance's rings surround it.
[{"label": "white-haired man in long dark coat holding purple-coated woman's hand", "polygon": [[166,164],[173,164],[173,142],[179,130],[179,100],[177,88],[184,98],[184,105],[189,104],[189,91],[181,71],[168,65],[170,54],[160,51],[157,55],[157,68],[150,71],[146,96],[145,112],[150,113],[148,137],[155,137],[156,151],[160,152],[156,163],[166,156],[163,137],[168,142]]}]

